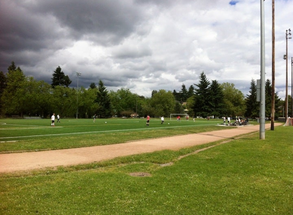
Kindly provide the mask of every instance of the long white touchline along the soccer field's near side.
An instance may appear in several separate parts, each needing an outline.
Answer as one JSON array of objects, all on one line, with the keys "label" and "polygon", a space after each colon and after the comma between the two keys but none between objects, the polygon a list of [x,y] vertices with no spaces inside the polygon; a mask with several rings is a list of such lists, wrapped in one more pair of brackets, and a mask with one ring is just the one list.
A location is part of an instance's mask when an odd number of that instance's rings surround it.
[{"label": "long white touchline along the soccer field's near side", "polygon": [[[215,125],[215,124],[207,124],[207,125]],[[193,126],[207,126],[207,125],[184,125],[184,126],[172,126],[172,127],[165,127],[165,128],[176,128],[176,127],[193,127]],[[21,137],[5,137],[0,138],[2,139],[13,139],[13,138],[33,138],[33,137],[48,137],[48,136],[61,136],[61,135],[80,135],[82,133],[103,133],[103,132],[116,132],[116,131],[134,131],[134,130],[145,130],[145,129],[164,129],[164,127],[157,127],[157,128],[137,128],[137,129],[125,129],[125,130],[101,130],[101,131],[87,131],[87,132],[75,132],[75,133],[56,133],[53,135],[32,135],[32,136],[21,136]]]}]

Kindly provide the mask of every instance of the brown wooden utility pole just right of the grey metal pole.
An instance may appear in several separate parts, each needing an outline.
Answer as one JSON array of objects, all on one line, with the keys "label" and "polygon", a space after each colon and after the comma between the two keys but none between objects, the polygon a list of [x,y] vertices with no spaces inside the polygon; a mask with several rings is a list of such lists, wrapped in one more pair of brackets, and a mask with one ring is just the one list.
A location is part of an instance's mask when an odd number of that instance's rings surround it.
[{"label": "brown wooden utility pole just right of the grey metal pole", "polygon": [[275,129],[275,0],[272,0],[272,107],[271,130]]}]

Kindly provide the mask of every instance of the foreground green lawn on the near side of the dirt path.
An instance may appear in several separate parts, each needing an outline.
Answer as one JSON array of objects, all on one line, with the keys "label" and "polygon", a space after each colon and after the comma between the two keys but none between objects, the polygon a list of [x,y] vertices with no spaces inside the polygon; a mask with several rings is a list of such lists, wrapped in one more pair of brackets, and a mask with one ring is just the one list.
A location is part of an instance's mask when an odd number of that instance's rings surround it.
[{"label": "foreground green lawn on the near side of the dirt path", "polygon": [[0,214],[292,214],[292,132],[1,175]]}]

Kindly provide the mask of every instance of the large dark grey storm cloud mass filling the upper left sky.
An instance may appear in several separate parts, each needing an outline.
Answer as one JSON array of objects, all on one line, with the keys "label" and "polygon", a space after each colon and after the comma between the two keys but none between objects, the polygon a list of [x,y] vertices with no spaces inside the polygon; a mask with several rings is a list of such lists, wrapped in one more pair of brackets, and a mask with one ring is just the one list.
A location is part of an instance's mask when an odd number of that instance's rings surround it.
[{"label": "large dark grey storm cloud mass filling the upper left sky", "polygon": [[[128,1],[2,1],[0,69],[11,61],[36,63],[24,53],[54,53],[79,39],[103,46],[118,44],[144,17]],[[145,17],[144,17],[145,18]],[[33,55],[33,54],[32,54]]]}]

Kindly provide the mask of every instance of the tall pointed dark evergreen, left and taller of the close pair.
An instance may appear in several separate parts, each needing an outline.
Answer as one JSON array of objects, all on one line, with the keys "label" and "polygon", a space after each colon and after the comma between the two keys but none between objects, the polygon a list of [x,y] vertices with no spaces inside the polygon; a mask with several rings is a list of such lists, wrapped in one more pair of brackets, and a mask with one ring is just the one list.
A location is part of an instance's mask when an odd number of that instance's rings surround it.
[{"label": "tall pointed dark evergreen, left and taller of the close pair", "polygon": [[209,94],[209,86],[210,82],[206,77],[204,72],[201,72],[199,76],[199,83],[194,84],[197,89],[195,89],[195,96],[194,96],[194,114],[195,116],[201,116],[206,118],[211,114],[210,108],[210,94]]}]

